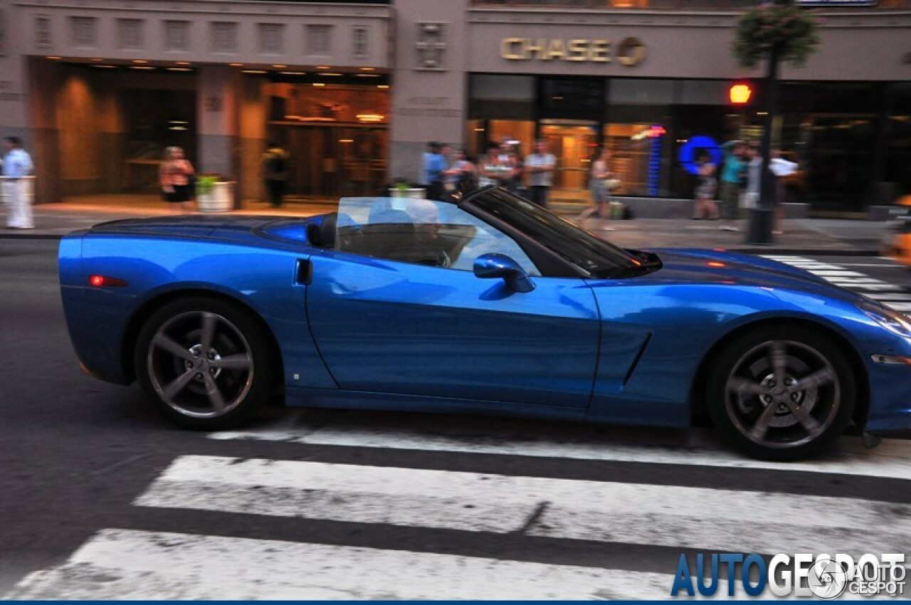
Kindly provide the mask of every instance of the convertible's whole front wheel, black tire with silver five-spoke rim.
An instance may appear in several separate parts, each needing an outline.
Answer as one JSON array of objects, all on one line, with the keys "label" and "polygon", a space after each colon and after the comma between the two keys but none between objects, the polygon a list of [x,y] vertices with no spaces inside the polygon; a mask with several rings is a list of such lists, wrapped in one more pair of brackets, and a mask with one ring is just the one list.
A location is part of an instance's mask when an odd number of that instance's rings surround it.
[{"label": "convertible's whole front wheel, black tire with silver five-spoke rim", "polygon": [[764,327],[722,348],[709,374],[709,414],[747,456],[820,455],[854,411],[856,379],[833,339],[801,327]]}]

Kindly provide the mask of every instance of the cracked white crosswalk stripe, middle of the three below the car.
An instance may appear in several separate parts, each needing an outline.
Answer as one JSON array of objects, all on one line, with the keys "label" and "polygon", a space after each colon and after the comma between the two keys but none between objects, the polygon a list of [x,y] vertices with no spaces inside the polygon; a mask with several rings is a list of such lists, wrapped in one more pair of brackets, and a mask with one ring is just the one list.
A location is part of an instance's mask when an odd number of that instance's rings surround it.
[{"label": "cracked white crosswalk stripe, middle of the three below the car", "polygon": [[221,456],[180,456],[134,504],[722,551],[911,543],[911,506],[853,498]]}]

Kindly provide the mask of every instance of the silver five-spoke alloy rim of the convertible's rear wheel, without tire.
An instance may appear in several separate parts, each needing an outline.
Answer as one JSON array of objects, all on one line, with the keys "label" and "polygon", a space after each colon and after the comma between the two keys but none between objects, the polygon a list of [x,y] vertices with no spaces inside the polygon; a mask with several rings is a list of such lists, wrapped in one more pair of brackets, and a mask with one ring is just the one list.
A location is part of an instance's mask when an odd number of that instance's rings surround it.
[{"label": "silver five-spoke alloy rim of the convertible's rear wheel, without tire", "polygon": [[191,418],[217,418],[244,401],[253,383],[251,347],[216,313],[180,313],[152,336],[148,377],[162,402]]}]

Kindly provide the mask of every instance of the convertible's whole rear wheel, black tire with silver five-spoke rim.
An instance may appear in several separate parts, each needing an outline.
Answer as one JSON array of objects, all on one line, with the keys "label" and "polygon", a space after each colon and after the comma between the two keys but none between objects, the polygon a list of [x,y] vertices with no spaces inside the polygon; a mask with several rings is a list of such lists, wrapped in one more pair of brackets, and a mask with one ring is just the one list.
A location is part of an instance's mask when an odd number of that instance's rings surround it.
[{"label": "convertible's whole rear wheel, black tire with silver five-spoke rim", "polygon": [[271,366],[249,313],[200,296],[152,313],[136,344],[137,379],[148,397],[173,422],[197,430],[238,426],[254,414],[271,394]]}]

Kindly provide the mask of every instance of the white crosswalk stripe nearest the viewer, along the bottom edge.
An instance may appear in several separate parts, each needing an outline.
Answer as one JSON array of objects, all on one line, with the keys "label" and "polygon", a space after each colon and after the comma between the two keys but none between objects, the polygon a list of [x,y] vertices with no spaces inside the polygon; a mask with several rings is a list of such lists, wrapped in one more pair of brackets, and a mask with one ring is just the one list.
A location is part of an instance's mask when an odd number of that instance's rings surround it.
[{"label": "white crosswalk stripe nearest the viewer, along the bottom edge", "polygon": [[670,573],[106,529],[16,600],[667,599]]}]

